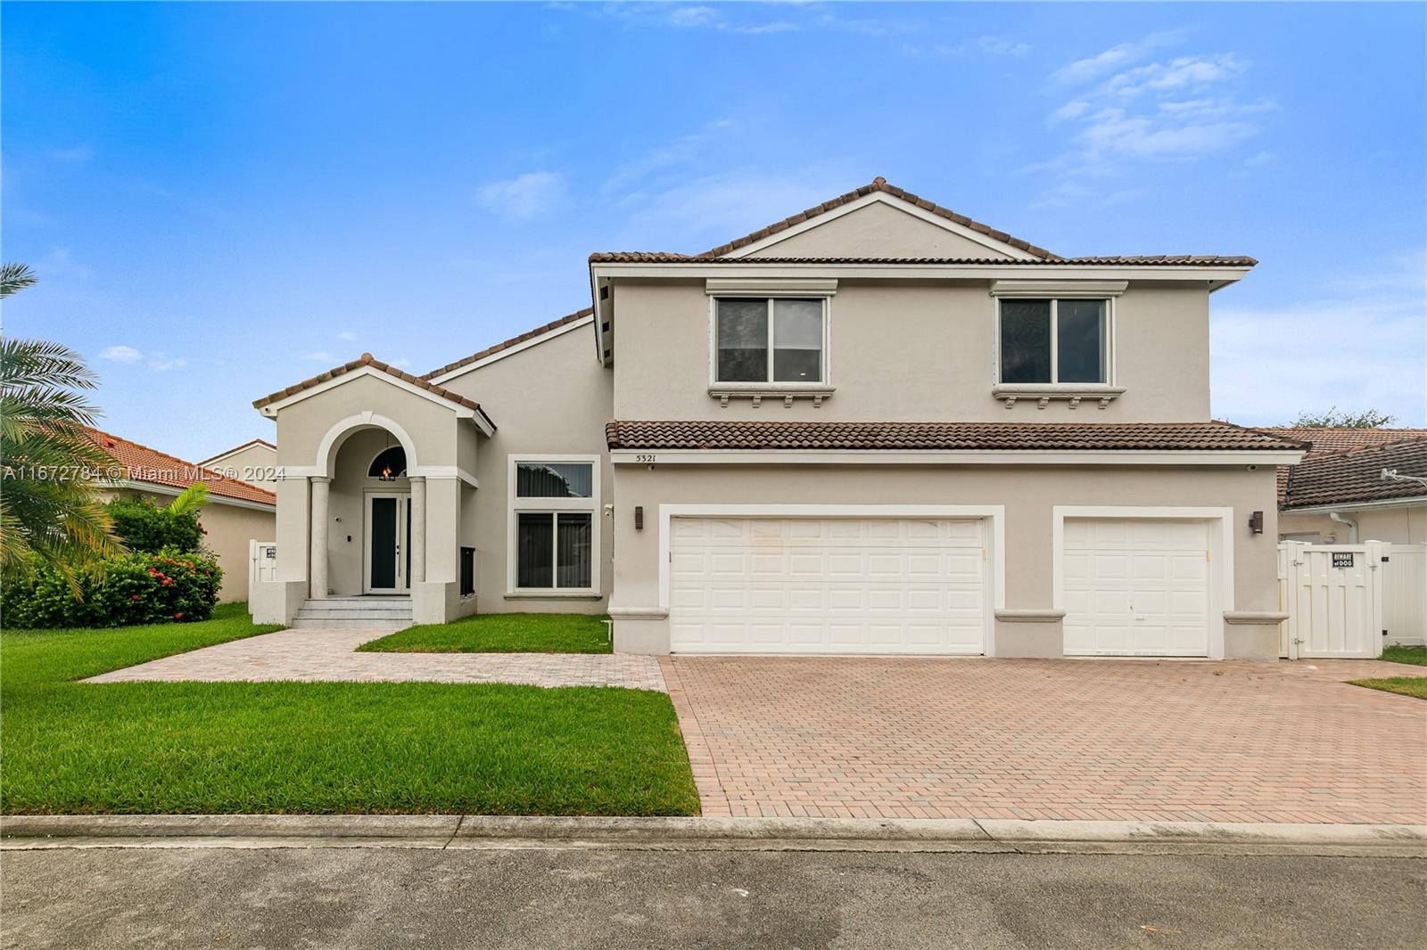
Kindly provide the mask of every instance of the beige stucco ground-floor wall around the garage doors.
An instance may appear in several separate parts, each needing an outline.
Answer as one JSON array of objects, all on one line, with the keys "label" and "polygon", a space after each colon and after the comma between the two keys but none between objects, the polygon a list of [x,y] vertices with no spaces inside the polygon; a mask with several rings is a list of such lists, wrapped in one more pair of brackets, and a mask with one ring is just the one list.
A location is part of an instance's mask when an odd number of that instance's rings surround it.
[{"label": "beige stucco ground-floor wall around the garage doors", "polygon": [[[1007,609],[1053,606],[1052,508],[1232,506],[1234,611],[1276,611],[1274,472],[1243,466],[619,465],[612,609],[659,605],[659,506],[668,504],[1005,505]],[[644,531],[634,508],[645,511]],[[1264,533],[1247,529],[1263,511]],[[616,640],[619,636],[616,623]],[[666,629],[664,632],[666,639]]]}]

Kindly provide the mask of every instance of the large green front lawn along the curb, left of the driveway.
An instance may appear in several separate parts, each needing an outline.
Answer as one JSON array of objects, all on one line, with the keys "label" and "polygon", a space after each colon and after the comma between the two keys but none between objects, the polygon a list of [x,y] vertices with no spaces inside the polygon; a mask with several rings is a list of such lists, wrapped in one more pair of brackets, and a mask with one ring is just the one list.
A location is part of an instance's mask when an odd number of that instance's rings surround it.
[{"label": "large green front lawn along the curb, left of the driveway", "polygon": [[76,683],[265,632],[0,632],[4,813],[696,814],[668,696],[447,683]]}]

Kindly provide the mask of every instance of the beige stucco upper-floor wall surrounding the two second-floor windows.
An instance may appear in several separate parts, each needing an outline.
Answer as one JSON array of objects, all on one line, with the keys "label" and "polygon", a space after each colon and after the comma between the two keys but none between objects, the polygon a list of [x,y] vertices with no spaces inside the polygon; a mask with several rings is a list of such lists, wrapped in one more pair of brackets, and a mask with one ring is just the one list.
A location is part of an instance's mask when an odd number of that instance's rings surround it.
[{"label": "beige stucco upper-floor wall surrounding the two second-floor windows", "polygon": [[1099,409],[1052,401],[1012,409],[992,397],[996,301],[986,281],[843,280],[831,302],[829,382],[811,399],[709,397],[711,305],[702,281],[615,287],[614,412],[624,419],[828,419],[997,422],[1189,422],[1209,418],[1209,294],[1132,282],[1114,301],[1116,385]]}]

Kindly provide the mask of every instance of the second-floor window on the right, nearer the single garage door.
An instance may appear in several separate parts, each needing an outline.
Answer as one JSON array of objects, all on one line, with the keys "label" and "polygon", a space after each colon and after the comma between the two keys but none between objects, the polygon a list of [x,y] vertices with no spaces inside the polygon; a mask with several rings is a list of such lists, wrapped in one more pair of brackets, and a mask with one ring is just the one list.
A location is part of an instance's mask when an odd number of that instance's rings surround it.
[{"label": "second-floor window on the right, nearer the single garage door", "polygon": [[1103,300],[1000,301],[1000,382],[1109,382]]}]

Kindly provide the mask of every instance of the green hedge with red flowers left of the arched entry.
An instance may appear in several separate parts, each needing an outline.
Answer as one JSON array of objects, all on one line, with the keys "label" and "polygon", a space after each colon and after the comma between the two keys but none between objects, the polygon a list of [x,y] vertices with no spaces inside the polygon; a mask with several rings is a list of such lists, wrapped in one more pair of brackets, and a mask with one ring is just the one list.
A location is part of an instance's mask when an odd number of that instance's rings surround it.
[{"label": "green hedge with red flowers left of the arched entry", "polygon": [[81,598],[49,568],[0,592],[0,622],[9,629],[130,626],[207,620],[218,602],[223,569],[204,553],[164,548],[136,551],[78,572]]}]

